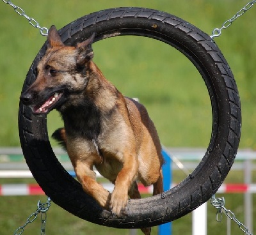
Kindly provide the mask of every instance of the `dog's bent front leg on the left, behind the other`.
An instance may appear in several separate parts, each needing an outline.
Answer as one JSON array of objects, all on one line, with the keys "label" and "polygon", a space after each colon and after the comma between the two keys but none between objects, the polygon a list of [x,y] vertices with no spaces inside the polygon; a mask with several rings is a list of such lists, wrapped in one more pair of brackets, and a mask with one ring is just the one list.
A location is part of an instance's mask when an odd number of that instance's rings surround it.
[{"label": "dog's bent front leg on the left, behind the other", "polygon": [[84,192],[91,195],[102,208],[109,209],[111,194],[102,185],[97,183],[96,174],[92,171],[92,167],[88,163],[77,162],[74,169]]}]

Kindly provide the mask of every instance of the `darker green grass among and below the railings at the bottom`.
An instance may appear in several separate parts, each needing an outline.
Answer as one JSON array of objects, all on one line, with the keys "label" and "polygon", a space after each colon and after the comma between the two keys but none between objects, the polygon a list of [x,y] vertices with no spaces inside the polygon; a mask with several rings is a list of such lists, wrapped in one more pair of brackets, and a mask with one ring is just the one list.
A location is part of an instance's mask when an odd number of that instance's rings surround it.
[{"label": "darker green grass among and below the railings at the bottom", "polygon": [[[256,180],[256,172],[253,171],[253,181]],[[173,172],[173,181],[178,182],[184,178],[183,173],[180,171]],[[225,183],[243,183],[243,172],[232,171],[228,175]],[[0,179],[0,184],[2,183],[17,183],[16,179]],[[35,183],[34,179],[19,179],[19,183]],[[146,195],[147,196],[147,195]],[[236,218],[244,222],[244,208],[243,208],[243,194],[217,194],[216,197],[225,197],[225,206],[230,209],[236,215]],[[29,215],[36,211],[36,204],[40,200],[41,202],[46,202],[47,198],[45,196],[12,196],[12,197],[1,197],[0,200],[0,232],[1,235],[13,234],[15,229],[19,226],[25,224]],[[253,195],[253,204],[255,204],[256,195]],[[256,216],[256,208],[253,208],[253,218]],[[40,234],[40,215],[32,224],[29,224],[24,234]],[[243,234],[238,228],[238,226],[231,222],[232,233],[231,234]],[[207,202],[207,234],[227,234],[227,218],[223,215],[223,222],[216,222],[216,209]],[[67,211],[61,209],[59,206],[52,202],[52,206],[47,212],[47,234],[108,234],[117,235],[124,234],[128,235],[129,231],[127,229],[115,229],[109,227],[102,227],[100,225],[95,225],[90,222],[86,222],[71,215]],[[251,231],[252,232],[252,231]],[[256,228],[254,227],[254,233]],[[138,235],[141,235],[141,231],[138,230]],[[173,222],[173,234],[192,234],[192,215],[186,215]],[[157,227],[152,229],[152,235],[157,235]]]}]

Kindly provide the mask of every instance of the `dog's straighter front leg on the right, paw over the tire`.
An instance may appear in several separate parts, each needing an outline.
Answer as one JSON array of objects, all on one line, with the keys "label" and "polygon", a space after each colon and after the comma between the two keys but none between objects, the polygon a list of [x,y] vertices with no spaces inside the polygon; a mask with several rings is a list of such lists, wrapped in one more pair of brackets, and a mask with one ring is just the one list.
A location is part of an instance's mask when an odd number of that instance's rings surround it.
[{"label": "dog's straighter front leg on the right, paw over the tire", "polygon": [[121,211],[124,211],[128,202],[129,188],[138,173],[138,160],[135,154],[126,153],[123,159],[124,166],[116,177],[110,200],[110,209],[115,215],[120,215]]}]

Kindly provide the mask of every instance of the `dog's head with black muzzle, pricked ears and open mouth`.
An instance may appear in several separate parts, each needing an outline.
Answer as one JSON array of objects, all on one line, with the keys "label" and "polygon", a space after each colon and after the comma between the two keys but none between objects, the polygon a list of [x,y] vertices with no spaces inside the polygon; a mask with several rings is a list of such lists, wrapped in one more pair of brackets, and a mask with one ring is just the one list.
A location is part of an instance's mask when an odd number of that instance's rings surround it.
[{"label": "dog's head with black muzzle, pricked ears and open mouth", "polygon": [[36,67],[36,80],[20,96],[33,114],[48,114],[52,109],[59,109],[72,94],[84,91],[94,36],[93,33],[76,47],[67,47],[61,42],[56,27],[49,29],[47,50]]}]

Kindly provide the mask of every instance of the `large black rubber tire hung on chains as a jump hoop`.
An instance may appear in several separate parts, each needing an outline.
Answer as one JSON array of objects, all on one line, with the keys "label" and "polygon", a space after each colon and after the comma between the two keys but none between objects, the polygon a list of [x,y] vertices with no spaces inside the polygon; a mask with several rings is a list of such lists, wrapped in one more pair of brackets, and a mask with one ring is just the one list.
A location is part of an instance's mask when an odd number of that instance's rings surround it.
[{"label": "large black rubber tire hung on chains as a jump hoop", "polygon": [[[33,116],[20,103],[20,142],[36,181],[61,208],[95,224],[140,228],[170,222],[188,214],[216,193],[230,171],[239,145],[241,107],[236,82],[227,61],[211,38],[200,29],[168,13],[145,8],[103,10],[60,29],[61,39],[75,45],[96,33],[95,41],[119,35],[154,38],[180,50],[205,81],[212,105],[212,135],[205,156],[195,171],[174,188],[147,199],[129,201],[126,214],[113,216],[86,193],[54,155],[47,133],[47,119]],[[34,68],[44,56],[42,47],[22,91],[35,80]]]}]

